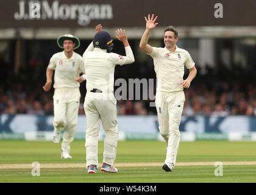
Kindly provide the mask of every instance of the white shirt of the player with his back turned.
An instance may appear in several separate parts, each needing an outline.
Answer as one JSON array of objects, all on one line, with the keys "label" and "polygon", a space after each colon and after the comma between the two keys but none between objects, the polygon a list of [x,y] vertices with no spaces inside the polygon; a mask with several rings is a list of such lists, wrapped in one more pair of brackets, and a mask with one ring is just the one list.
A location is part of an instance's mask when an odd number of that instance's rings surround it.
[{"label": "white shirt of the player with his back turned", "polygon": [[112,92],[114,90],[115,66],[124,65],[126,56],[94,48],[93,51],[85,51],[83,58],[87,76],[87,91],[96,88],[104,93]]}]

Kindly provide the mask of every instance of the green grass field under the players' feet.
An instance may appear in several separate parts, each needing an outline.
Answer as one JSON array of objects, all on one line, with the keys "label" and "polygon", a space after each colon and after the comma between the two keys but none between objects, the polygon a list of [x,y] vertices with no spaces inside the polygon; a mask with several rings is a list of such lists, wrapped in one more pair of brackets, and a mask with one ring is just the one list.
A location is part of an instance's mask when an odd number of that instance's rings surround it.
[{"label": "green grass field under the players' feet", "polygon": [[[50,141],[0,141],[0,182],[107,182],[107,183],[171,183],[171,182],[256,182],[256,164],[224,165],[223,176],[216,177],[216,167],[176,166],[165,172],[161,166],[118,167],[118,173],[98,171],[88,174],[83,168],[41,168],[40,177],[31,175],[32,167],[3,169],[2,164],[85,163],[85,141],[71,144],[72,159],[60,159],[60,144]],[[181,142],[179,162],[256,161],[253,142],[195,141]],[[103,142],[99,142],[99,165],[102,163]],[[119,141],[116,164],[163,162],[165,143],[160,141]]]}]

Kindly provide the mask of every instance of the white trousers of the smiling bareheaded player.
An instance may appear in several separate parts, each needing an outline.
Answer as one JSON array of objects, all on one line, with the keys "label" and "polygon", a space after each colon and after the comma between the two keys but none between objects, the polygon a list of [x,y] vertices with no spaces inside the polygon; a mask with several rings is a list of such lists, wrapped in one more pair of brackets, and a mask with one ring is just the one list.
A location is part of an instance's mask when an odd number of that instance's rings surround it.
[{"label": "white trousers of the smiling bareheaded player", "polygon": [[180,121],[185,102],[183,91],[157,91],[155,107],[159,121],[160,134],[166,141],[165,163],[176,163],[177,151],[180,142]]}]

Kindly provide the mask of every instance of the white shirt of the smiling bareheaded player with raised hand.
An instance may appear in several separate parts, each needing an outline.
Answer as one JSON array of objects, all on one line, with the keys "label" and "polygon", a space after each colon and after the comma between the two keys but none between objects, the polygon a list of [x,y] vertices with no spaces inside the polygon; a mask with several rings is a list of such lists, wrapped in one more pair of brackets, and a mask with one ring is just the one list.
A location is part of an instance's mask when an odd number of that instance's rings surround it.
[{"label": "white shirt of the smiling bareheaded player with raised hand", "polygon": [[194,62],[185,49],[176,46],[174,52],[166,48],[154,48],[149,54],[154,59],[154,69],[157,76],[157,91],[182,91],[184,65],[190,69]]}]

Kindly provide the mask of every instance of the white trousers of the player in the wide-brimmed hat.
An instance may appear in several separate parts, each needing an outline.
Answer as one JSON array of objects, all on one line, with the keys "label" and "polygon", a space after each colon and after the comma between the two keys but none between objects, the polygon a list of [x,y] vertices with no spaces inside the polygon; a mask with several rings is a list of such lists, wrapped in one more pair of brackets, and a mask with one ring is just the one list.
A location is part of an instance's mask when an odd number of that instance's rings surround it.
[{"label": "white trousers of the player in the wide-brimmed hat", "polygon": [[62,151],[70,151],[69,144],[74,140],[79,110],[79,88],[57,88],[54,91],[54,130],[62,132]]}]

